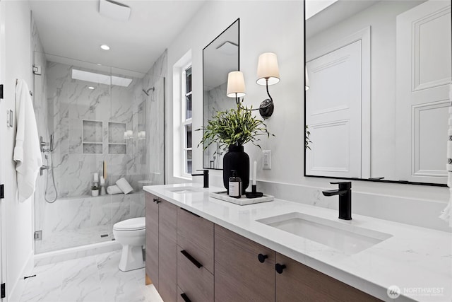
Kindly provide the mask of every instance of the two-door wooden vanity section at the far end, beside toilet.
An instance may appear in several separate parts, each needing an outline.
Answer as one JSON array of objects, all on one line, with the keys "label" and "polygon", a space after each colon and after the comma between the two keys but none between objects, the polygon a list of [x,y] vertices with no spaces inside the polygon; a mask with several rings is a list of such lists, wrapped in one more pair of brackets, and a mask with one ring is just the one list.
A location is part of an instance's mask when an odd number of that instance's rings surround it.
[{"label": "two-door wooden vanity section at the far end, beside toilet", "polygon": [[146,274],[163,301],[177,301],[177,207],[146,194]]}]

